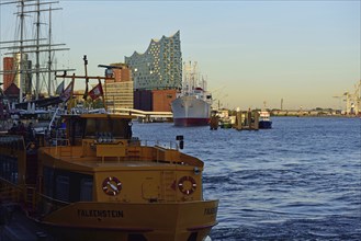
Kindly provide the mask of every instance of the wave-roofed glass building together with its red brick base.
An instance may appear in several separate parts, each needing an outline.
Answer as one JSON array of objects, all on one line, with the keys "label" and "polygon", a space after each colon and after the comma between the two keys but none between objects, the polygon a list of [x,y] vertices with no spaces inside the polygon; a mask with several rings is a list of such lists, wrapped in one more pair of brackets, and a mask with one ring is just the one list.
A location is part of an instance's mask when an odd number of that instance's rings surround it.
[{"label": "wave-roofed glass building together with its red brick base", "polygon": [[170,103],[182,87],[180,32],[151,39],[144,54],[125,57],[134,81],[134,108],[170,112]]}]

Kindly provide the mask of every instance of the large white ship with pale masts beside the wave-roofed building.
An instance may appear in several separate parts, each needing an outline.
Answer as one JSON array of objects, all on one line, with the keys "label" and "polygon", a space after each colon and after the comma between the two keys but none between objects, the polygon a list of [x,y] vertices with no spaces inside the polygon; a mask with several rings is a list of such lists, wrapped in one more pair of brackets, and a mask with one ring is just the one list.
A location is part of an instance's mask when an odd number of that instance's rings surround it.
[{"label": "large white ship with pale masts beside the wave-roofed building", "polygon": [[206,91],[206,81],[200,80],[198,64],[183,65],[182,90],[171,103],[176,126],[206,126],[210,123],[212,94]]}]

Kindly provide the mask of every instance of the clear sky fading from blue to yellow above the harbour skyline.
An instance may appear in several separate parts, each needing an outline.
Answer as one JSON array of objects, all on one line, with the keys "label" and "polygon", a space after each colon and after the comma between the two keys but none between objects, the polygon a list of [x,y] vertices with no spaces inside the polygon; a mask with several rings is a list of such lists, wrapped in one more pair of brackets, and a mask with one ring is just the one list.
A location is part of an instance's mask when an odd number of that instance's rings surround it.
[{"label": "clear sky fading from blue to yellow above the harbour skyline", "polygon": [[[53,36],[70,50],[57,67],[83,74],[87,55],[88,73],[103,76],[98,65],[180,31],[183,60],[198,61],[223,107],[345,108],[334,96],[361,79],[360,2],[60,0]],[[0,41],[13,37],[13,12],[0,7]]]}]

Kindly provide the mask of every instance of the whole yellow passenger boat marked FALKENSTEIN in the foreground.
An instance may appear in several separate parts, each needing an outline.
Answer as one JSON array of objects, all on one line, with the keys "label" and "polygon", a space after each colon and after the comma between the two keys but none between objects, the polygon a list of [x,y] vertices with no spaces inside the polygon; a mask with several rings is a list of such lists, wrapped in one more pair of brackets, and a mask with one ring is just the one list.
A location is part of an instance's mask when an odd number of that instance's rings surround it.
[{"label": "whole yellow passenger boat marked FALKENSTEIN in the foreground", "polygon": [[2,134],[2,202],[22,204],[59,240],[204,240],[218,207],[203,198],[204,163],[179,145],[144,145],[132,118],[66,115],[55,146]]}]

